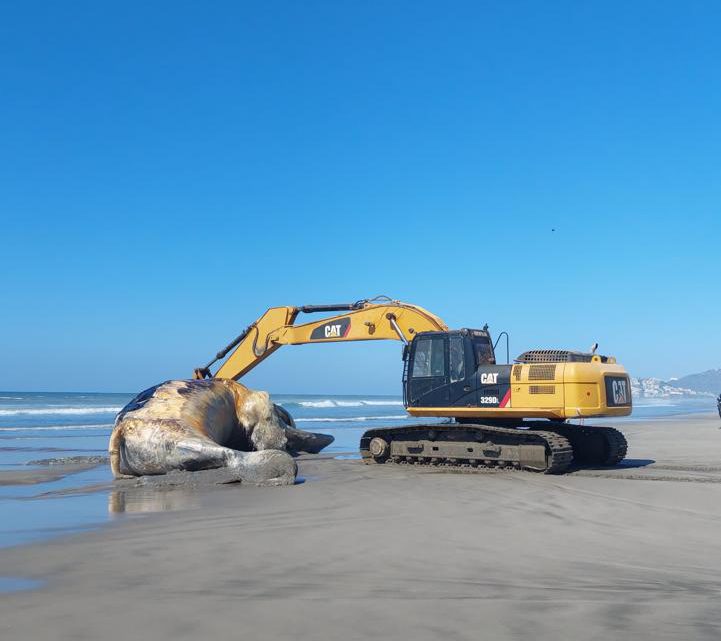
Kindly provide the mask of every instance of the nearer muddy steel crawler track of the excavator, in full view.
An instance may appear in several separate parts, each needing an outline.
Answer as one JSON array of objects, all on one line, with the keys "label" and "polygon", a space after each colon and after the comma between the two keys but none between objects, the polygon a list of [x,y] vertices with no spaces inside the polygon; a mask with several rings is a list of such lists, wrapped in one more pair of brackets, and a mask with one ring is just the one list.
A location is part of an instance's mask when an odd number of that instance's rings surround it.
[{"label": "nearer muddy steel crawler track of the excavator, in full view", "polygon": [[368,430],[361,437],[366,463],[523,469],[563,474],[573,463],[568,439],[555,431],[463,423]]}]

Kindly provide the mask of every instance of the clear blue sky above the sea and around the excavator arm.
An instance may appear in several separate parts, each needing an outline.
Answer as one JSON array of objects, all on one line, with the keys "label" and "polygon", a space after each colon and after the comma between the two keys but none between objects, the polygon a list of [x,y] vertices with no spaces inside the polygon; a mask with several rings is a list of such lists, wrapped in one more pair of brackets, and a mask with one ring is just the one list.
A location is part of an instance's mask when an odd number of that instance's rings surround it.
[{"label": "clear blue sky above the sea and around the excavator arm", "polygon": [[[136,391],[376,294],[514,354],[721,367],[720,32],[716,2],[5,3],[0,389]],[[245,382],[400,375],[355,343]]]}]

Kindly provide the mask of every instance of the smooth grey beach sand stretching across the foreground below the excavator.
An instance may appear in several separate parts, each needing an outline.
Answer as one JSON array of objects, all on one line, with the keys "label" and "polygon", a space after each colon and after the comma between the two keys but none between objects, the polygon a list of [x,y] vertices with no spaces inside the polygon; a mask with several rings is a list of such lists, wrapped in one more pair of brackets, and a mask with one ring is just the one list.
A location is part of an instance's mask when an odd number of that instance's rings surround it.
[{"label": "smooth grey beach sand stretching across the foreground below the excavator", "polygon": [[126,486],[181,509],[1,550],[43,586],[2,595],[0,635],[718,639],[721,421],[621,427],[625,466],[560,477],[321,455],[294,487]]}]

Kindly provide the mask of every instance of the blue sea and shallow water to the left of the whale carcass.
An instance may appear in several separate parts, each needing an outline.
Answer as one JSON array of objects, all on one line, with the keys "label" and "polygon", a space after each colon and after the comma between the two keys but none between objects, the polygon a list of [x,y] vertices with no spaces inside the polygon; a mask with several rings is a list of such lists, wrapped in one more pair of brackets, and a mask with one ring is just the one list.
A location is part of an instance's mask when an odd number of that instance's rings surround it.
[{"label": "blue sea and shallow water to the left of the whale carcass", "polygon": [[[0,547],[81,531],[108,519],[112,480],[99,465],[62,476],[43,459],[106,456],[118,410],[132,394],[0,392]],[[4,472],[57,470],[60,478],[33,485],[2,484]]]}]

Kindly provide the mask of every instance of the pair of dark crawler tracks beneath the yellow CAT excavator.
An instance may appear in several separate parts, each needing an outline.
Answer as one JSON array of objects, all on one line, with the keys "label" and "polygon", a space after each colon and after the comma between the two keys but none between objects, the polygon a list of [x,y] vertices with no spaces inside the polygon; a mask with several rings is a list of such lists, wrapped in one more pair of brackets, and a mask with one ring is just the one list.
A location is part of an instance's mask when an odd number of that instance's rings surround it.
[{"label": "pair of dark crawler tracks beneath the yellow CAT excavator", "polygon": [[473,470],[522,469],[563,474],[573,467],[612,467],[626,456],[623,434],[612,427],[568,423],[432,424],[378,428],[363,434],[365,463],[400,463]]}]

